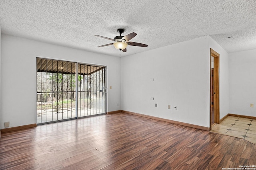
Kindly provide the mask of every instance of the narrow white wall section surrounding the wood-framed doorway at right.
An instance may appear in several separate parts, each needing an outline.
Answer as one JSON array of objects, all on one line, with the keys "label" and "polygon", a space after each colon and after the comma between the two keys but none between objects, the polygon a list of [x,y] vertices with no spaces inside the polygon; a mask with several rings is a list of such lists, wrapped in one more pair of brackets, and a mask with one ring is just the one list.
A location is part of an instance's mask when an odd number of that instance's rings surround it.
[{"label": "narrow white wall section surrounding the wood-framed doorway at right", "polygon": [[[209,37],[209,45],[220,54],[219,57],[219,90],[220,90],[220,119],[229,113],[229,55]],[[210,49],[209,49],[210,53]],[[210,56],[210,55],[209,55]]]}]

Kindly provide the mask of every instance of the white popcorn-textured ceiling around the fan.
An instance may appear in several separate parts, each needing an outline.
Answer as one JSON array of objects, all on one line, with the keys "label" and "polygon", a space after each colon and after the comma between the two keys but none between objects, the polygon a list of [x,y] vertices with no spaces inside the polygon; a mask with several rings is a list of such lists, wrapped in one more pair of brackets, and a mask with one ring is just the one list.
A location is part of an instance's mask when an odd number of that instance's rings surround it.
[{"label": "white popcorn-textured ceiling around the fan", "polygon": [[[256,0],[0,0],[1,31],[119,56],[116,30],[137,33],[122,56],[210,35],[227,52],[256,49]],[[232,38],[228,38],[232,37]]]}]

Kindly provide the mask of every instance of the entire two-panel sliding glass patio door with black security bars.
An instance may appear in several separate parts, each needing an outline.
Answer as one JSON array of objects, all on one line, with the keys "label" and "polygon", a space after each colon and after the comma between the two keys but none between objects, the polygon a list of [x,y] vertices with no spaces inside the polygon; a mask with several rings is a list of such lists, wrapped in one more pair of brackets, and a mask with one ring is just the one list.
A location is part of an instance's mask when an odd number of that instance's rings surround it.
[{"label": "entire two-panel sliding glass patio door with black security bars", "polygon": [[104,86],[103,66],[37,58],[37,124],[106,113]]}]

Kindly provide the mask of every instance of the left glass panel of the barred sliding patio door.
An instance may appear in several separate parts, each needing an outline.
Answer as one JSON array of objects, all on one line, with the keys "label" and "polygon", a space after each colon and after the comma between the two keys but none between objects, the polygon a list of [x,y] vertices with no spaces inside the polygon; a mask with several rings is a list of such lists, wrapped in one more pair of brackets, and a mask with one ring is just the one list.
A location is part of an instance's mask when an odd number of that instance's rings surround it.
[{"label": "left glass panel of the barred sliding patio door", "polygon": [[74,118],[76,64],[37,58],[37,123]]}]

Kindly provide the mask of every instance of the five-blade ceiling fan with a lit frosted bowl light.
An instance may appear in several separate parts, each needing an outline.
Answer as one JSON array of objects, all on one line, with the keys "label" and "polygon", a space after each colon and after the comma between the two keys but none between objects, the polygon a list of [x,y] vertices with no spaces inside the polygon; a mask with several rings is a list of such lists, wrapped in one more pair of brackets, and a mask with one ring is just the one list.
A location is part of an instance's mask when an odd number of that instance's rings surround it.
[{"label": "five-blade ceiling fan with a lit frosted bowl light", "polygon": [[146,45],[146,44],[135,43],[135,42],[129,41],[130,39],[132,39],[133,37],[135,37],[137,35],[136,33],[129,33],[128,35],[122,36],[121,34],[124,33],[124,29],[118,29],[117,32],[120,33],[120,35],[114,37],[114,39],[108,38],[108,37],[103,37],[103,36],[100,36],[100,35],[95,35],[97,37],[101,37],[101,38],[104,38],[104,39],[109,39],[109,40],[115,41],[114,43],[105,44],[105,45],[101,45],[101,46],[98,46],[98,47],[105,47],[105,46],[108,46],[108,45],[114,45],[114,47],[116,49],[120,50],[120,55],[121,55],[121,50],[123,52],[126,52],[127,45],[139,46],[139,47],[148,47],[148,45]]}]

